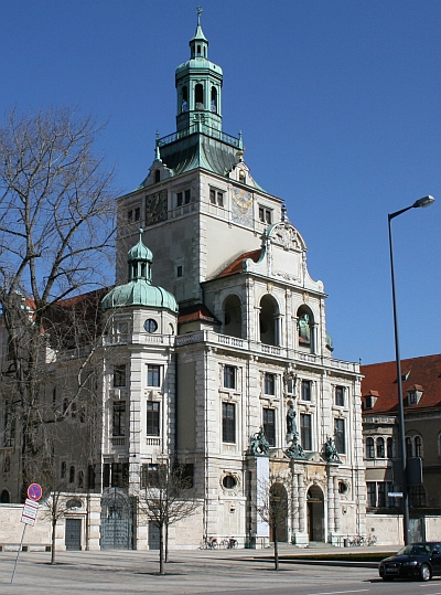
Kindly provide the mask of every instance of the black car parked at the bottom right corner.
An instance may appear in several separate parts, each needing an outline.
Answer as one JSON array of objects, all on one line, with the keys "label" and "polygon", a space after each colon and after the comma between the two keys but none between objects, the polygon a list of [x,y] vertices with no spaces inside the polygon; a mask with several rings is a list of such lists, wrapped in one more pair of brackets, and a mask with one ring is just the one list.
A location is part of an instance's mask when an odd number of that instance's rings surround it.
[{"label": "black car parked at the bottom right corner", "polygon": [[441,575],[441,542],[424,541],[405,545],[395,555],[381,560],[378,572],[384,581],[430,581],[435,574]]}]

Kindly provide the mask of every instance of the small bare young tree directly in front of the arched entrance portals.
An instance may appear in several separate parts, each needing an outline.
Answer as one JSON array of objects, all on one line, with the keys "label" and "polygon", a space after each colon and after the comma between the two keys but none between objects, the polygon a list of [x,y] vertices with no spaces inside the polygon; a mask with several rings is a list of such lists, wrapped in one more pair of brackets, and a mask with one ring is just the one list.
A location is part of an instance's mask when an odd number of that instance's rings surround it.
[{"label": "small bare young tree directly in front of the arched entrance portals", "polygon": [[278,532],[288,519],[287,490],[275,478],[260,481],[257,486],[256,510],[263,522],[268,524],[275,543],[275,570],[279,570]]}]

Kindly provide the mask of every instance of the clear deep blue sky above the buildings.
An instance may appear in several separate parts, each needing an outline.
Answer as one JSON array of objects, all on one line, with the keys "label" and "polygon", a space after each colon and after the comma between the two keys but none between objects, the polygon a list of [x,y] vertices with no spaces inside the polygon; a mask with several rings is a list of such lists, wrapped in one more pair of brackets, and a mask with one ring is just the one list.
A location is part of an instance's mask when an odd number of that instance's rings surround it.
[{"label": "clear deep blue sky above the buildings", "polygon": [[[224,131],[286,200],[329,294],[337,359],[392,360],[387,214],[394,220],[401,357],[440,352],[441,2],[206,0],[224,70]],[[195,0],[0,0],[0,111],[78,106],[107,121],[98,150],[121,192],[175,129],[174,70]]]}]

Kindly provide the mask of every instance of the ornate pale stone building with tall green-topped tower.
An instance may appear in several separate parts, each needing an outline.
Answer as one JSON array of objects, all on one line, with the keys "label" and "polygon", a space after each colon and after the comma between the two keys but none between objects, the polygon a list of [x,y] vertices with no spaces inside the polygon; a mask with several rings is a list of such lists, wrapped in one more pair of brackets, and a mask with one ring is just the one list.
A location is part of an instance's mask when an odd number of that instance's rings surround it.
[{"label": "ornate pale stone building with tall green-topped tower", "polygon": [[[191,469],[201,502],[171,528],[171,548],[232,535],[266,545],[262,485],[287,502],[281,541],[341,543],[366,530],[359,366],[333,358],[305,242],[255,181],[241,138],[222,132],[207,46],[198,22],[176,70],[176,132],[157,139],[144,181],[118,200],[119,285],[103,300],[97,351],[100,546],[155,546],[133,502],[164,460]],[[122,520],[123,544],[109,536]]]}]

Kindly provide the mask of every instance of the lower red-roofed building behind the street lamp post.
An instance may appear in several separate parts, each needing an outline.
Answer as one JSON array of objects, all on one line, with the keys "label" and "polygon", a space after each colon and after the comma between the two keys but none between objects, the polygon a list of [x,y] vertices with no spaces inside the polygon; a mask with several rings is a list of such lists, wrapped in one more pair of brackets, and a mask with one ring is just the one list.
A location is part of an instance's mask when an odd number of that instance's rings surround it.
[{"label": "lower red-roofed building behind the street lamp post", "polygon": [[[422,485],[409,486],[412,540],[428,535],[426,519],[440,517],[441,495],[441,355],[401,361],[407,457],[422,459]],[[401,502],[394,477],[399,458],[396,362],[363,365],[363,426],[367,514],[399,514]],[[368,522],[367,521],[367,522]],[[433,523],[432,523],[433,524]],[[438,538],[437,538],[438,539]]]}]

